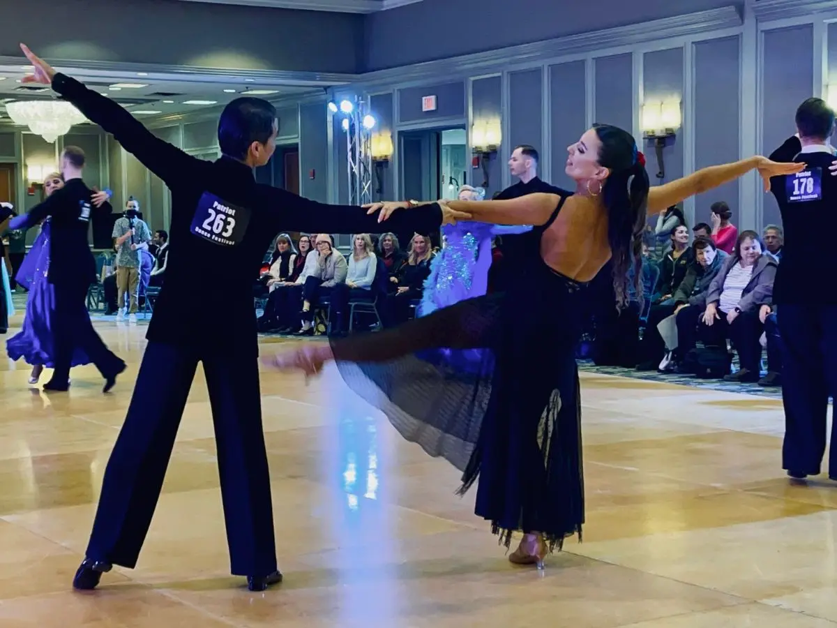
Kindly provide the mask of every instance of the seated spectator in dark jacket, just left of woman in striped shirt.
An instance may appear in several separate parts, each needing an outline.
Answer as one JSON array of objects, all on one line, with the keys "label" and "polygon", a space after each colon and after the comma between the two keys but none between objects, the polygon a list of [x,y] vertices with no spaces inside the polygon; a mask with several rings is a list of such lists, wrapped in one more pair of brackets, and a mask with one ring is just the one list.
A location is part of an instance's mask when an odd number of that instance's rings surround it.
[{"label": "seated spectator in dark jacket, just left of woman in striped shirt", "polygon": [[[684,307],[706,308],[706,292],[711,282],[721,270],[727,254],[715,248],[715,243],[708,237],[695,240],[691,245],[693,261],[686,270],[686,276],[668,301],[651,306],[648,323],[640,343],[639,371],[653,371],[663,368],[660,363],[665,356],[665,342],[660,336],[658,325],[665,318],[677,313]],[[669,362],[670,364],[674,364]]]}]

